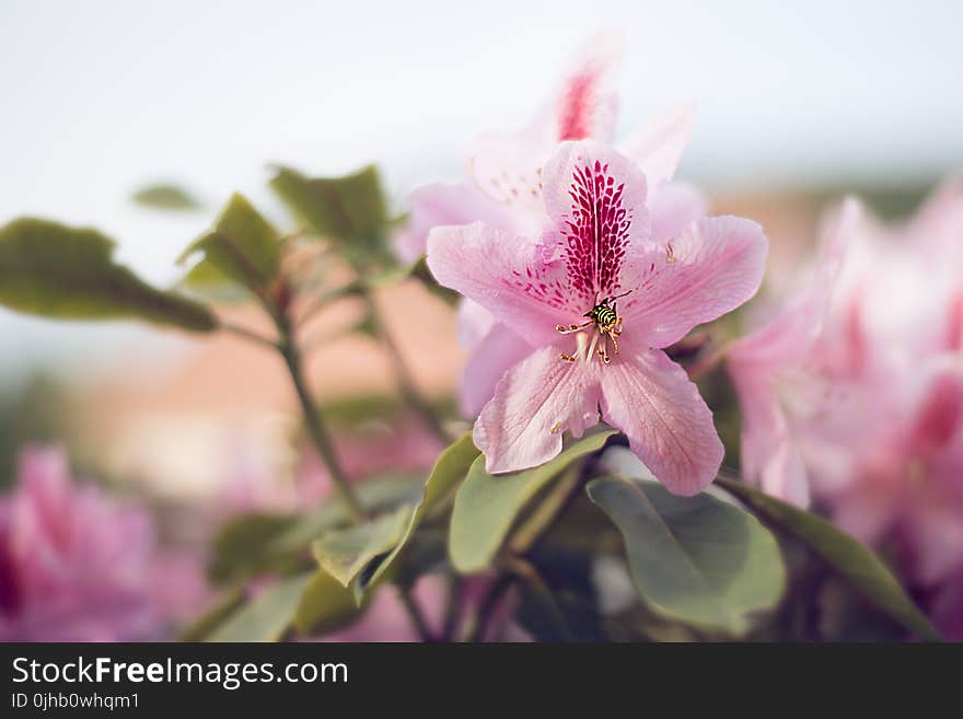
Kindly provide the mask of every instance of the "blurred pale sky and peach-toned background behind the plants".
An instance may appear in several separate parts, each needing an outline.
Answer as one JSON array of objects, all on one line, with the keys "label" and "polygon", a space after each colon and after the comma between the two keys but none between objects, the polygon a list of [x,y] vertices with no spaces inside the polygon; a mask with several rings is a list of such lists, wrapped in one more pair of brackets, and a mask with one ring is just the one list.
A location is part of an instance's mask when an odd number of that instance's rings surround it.
[{"label": "blurred pale sky and peach-toned background behind the plants", "polygon": [[[0,0],[0,223],[95,225],[120,260],[171,285],[232,190],[283,218],[269,163],[332,175],[378,162],[402,211],[418,184],[460,178],[477,132],[522,125],[567,58],[617,30],[618,131],[697,100],[678,176],[716,211],[762,221],[778,276],[827,199],[858,192],[902,213],[963,166],[961,27],[953,0]],[[154,182],[202,207],[131,201]],[[421,389],[451,393],[462,355],[450,311],[417,287],[384,306],[395,328],[419,313],[396,332],[401,350]],[[312,381],[325,401],[378,395],[385,368],[347,338],[315,352]],[[213,496],[232,473],[293,461],[292,406],[279,361],[237,339],[0,309],[0,482],[22,442],[59,440],[81,466]]]}]

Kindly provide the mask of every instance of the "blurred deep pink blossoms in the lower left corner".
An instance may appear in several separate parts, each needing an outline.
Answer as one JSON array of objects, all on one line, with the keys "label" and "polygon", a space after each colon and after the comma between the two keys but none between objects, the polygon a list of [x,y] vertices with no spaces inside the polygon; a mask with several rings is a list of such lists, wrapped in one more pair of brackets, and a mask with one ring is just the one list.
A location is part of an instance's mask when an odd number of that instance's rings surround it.
[{"label": "blurred deep pink blossoms in the lower left corner", "polygon": [[27,449],[16,487],[0,499],[0,639],[161,638],[206,590],[200,563],[178,560],[169,572],[173,557],[159,553],[146,511],[76,484],[62,452]]}]

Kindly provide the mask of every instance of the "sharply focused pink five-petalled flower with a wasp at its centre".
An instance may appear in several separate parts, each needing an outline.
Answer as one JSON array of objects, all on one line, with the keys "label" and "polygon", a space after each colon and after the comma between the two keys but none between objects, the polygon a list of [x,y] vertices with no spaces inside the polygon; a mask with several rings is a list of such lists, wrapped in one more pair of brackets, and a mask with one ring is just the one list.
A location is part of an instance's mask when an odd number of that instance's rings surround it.
[{"label": "sharply focused pink five-petalled flower with a wasp at its centre", "polygon": [[522,355],[475,424],[488,471],[550,460],[564,431],[582,436],[601,410],[670,490],[698,492],[722,444],[695,385],[660,348],[753,295],[762,230],[705,218],[653,241],[645,175],[591,140],[561,143],[543,186],[550,229],[541,237],[479,222],[438,228],[428,241],[436,279],[491,312]]}]

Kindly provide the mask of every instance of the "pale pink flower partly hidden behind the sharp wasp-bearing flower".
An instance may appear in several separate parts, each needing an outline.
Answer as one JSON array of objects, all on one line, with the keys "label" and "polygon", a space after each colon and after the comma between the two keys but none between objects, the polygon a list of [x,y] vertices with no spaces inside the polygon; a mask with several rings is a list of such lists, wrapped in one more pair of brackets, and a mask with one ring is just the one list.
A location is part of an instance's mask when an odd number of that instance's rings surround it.
[{"label": "pale pink flower partly hidden behind the sharp wasp-bearing flower", "polygon": [[[469,178],[436,184],[411,194],[410,221],[396,239],[404,262],[425,254],[432,228],[481,221],[518,237],[541,236],[547,228],[542,172],[559,142],[610,141],[616,120],[615,76],[620,60],[617,37],[603,35],[577,54],[549,101],[517,132],[483,134],[469,154]],[[619,146],[647,175],[651,239],[668,242],[705,214],[706,201],[694,187],[670,183],[682,155],[694,115],[692,105],[674,111]],[[524,356],[511,325],[464,300],[459,317],[462,344],[474,351],[461,385],[460,408],[475,417],[495,393],[506,370]]]}]

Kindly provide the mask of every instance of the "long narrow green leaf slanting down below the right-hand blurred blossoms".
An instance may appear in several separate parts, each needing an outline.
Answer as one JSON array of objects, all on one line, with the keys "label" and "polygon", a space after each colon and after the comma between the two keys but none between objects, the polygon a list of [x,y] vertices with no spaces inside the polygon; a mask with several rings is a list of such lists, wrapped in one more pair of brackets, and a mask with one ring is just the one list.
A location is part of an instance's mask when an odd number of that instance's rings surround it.
[{"label": "long narrow green leaf slanting down below the right-hand blurred blossoms", "polygon": [[716,484],[800,540],[873,605],[920,639],[941,640],[880,558],[832,522],[734,479],[719,477]]}]

